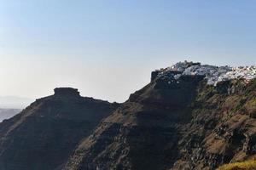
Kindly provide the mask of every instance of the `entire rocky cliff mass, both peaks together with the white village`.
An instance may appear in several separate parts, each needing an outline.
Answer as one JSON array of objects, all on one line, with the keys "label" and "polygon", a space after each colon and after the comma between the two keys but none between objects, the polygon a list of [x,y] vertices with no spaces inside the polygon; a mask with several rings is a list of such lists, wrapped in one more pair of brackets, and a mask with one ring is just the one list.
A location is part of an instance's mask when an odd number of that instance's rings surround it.
[{"label": "entire rocky cliff mass, both peaks together with the white village", "polygon": [[151,75],[121,105],[73,88],[38,99],[0,124],[0,169],[213,170],[256,158],[255,67],[184,62]]}]

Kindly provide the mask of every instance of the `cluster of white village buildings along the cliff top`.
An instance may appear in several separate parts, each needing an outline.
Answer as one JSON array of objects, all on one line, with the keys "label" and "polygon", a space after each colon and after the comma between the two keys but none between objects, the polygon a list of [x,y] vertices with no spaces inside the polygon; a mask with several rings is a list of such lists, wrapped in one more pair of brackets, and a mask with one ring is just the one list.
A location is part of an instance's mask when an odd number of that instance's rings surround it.
[{"label": "cluster of white village buildings along the cliff top", "polygon": [[201,65],[201,63],[193,62],[178,62],[171,67],[160,70],[160,75],[165,75],[168,71],[179,71],[180,74],[174,76],[178,79],[182,75],[200,75],[205,76],[207,84],[216,85],[218,82],[223,82],[231,79],[244,79],[247,82],[256,78],[256,66],[215,66]]}]

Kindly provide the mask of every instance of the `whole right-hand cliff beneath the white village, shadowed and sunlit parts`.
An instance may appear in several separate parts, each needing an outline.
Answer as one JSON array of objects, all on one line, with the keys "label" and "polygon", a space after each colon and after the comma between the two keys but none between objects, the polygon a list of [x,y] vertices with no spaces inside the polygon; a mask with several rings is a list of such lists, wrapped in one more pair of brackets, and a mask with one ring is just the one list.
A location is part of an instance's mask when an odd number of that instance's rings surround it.
[{"label": "whole right-hand cliff beneath the white village, shadowed and sunlit parts", "polygon": [[254,156],[255,115],[255,80],[214,87],[201,76],[154,77],[79,144],[64,169],[215,169]]}]

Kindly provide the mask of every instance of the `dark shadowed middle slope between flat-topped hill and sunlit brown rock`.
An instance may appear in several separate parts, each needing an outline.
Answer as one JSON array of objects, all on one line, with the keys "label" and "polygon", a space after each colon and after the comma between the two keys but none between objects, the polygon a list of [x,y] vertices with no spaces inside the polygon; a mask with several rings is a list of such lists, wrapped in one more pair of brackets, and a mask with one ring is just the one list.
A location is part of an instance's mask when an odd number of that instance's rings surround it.
[{"label": "dark shadowed middle slope between flat-topped hill and sunlit brown rock", "polygon": [[66,169],[168,169],[191,120],[201,76],[157,78],[108,116],[79,144]]}]

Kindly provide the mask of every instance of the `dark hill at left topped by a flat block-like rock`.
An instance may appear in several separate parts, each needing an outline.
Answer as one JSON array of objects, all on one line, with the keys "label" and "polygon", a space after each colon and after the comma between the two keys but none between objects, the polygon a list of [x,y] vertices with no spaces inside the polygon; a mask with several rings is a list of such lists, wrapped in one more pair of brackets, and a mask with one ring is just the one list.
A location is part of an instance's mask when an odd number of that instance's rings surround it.
[{"label": "dark hill at left topped by a flat block-like rock", "polygon": [[79,141],[117,107],[81,97],[77,89],[55,88],[0,124],[0,169],[61,169]]}]

